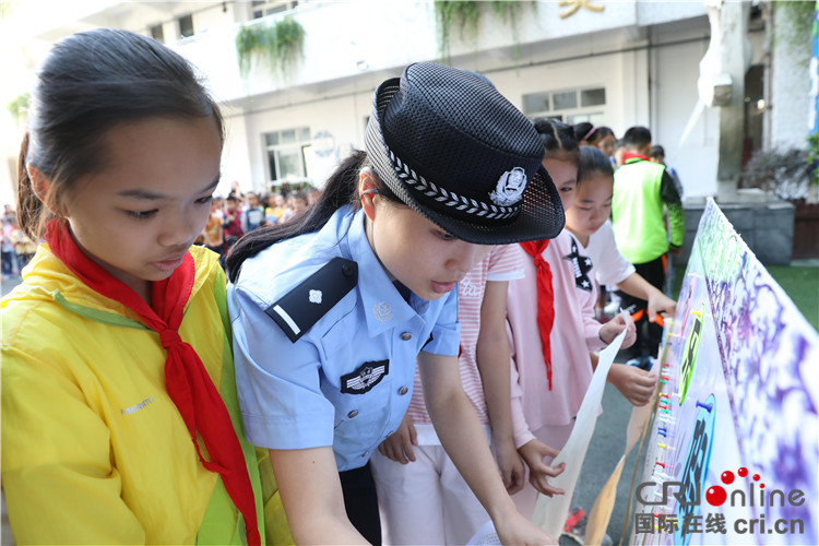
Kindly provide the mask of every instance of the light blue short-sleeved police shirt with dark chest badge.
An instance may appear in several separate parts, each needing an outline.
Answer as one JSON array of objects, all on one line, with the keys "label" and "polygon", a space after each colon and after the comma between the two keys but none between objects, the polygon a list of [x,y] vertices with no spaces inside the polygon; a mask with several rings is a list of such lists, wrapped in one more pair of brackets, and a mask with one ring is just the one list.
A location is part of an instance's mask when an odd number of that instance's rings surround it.
[{"label": "light blue short-sleeved police shirt with dark chest badge", "polygon": [[[351,264],[357,283],[340,296]],[[404,300],[372,252],[364,213],[351,206],[320,232],[246,260],[228,307],[248,439],[269,449],[332,446],[340,471],[363,466],[401,424],[422,348],[458,355],[456,293]],[[330,305],[305,324],[311,306]]]}]

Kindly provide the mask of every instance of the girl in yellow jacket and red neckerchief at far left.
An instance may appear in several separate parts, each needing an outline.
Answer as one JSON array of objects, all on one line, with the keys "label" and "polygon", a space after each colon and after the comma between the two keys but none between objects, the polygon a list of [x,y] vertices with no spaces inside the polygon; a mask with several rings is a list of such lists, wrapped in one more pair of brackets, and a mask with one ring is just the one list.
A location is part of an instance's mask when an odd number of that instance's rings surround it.
[{"label": "girl in yellow jacket and red neckerchief at far left", "polygon": [[1,304],[16,541],[289,541],[241,427],[224,274],[191,248],[218,108],[177,54],[114,29],[58,44],[33,96],[17,211],[46,244]]}]

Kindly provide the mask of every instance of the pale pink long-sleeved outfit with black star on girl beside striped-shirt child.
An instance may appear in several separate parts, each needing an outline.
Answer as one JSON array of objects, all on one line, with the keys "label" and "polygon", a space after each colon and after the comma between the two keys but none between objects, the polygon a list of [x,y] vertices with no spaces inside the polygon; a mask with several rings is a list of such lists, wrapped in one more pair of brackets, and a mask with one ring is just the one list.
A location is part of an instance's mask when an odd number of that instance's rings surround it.
[{"label": "pale pink long-sleeved outfit with black star on girl beside striped-shirt child", "polygon": [[[592,381],[590,352],[606,346],[602,324],[594,319],[597,287],[594,264],[586,249],[563,229],[543,251],[551,270],[555,324],[549,334],[551,388],[546,377],[537,316],[534,260],[524,259],[525,276],[509,283],[507,319],[512,356],[512,425],[514,444],[534,438],[557,450],[571,435],[574,416]],[[526,482],[512,496],[518,510],[531,518],[537,491]]]}]

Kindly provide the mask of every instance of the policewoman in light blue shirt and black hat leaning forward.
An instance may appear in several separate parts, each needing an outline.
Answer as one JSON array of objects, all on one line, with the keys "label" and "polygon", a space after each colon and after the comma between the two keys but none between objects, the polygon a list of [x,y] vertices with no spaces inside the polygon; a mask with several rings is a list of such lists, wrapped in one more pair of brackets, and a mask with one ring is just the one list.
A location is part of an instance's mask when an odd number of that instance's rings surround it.
[{"label": "policewoman in light blue shirt and black hat leaning forward", "polygon": [[490,245],[562,228],[543,153],[485,79],[412,64],[376,90],[366,153],[320,201],[232,251],[245,431],[270,450],[297,543],[380,544],[368,461],[406,412],[416,359],[441,443],[500,538],[550,543],[515,510],[461,387],[454,289]]}]

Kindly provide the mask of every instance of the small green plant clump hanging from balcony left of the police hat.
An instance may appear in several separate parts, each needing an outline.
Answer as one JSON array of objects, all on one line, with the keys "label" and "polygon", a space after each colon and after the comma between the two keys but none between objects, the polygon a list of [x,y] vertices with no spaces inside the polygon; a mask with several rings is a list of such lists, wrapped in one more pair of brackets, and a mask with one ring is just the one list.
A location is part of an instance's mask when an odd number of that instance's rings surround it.
[{"label": "small green plant clump hanging from balcony left of the police hat", "polygon": [[289,15],[276,21],[273,26],[242,26],[236,34],[239,71],[246,76],[256,58],[265,60],[271,69],[285,75],[301,57],[304,43],[305,28]]}]

